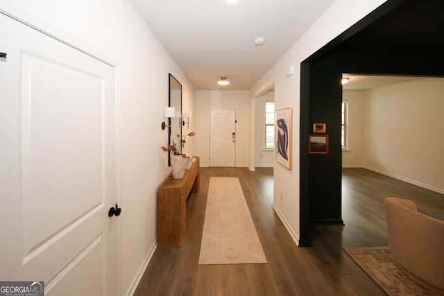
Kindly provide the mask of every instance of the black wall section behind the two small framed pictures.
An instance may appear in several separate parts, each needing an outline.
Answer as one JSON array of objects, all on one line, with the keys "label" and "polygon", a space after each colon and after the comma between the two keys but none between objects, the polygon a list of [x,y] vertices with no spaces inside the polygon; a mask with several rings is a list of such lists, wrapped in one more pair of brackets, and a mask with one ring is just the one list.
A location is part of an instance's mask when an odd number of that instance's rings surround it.
[{"label": "black wall section behind the two small framed pictures", "polygon": [[342,87],[337,68],[336,58],[327,58],[310,67],[308,133],[314,134],[313,123],[325,123],[329,146],[328,154],[308,155],[310,223],[342,223]]}]

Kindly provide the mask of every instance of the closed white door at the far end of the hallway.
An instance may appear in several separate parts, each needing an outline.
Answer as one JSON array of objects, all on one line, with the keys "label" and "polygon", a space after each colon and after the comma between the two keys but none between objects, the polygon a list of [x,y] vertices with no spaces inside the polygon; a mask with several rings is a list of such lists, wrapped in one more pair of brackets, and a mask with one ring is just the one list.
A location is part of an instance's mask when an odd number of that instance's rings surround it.
[{"label": "closed white door at the far end of the hallway", "polygon": [[210,166],[236,165],[236,110],[210,110]]}]

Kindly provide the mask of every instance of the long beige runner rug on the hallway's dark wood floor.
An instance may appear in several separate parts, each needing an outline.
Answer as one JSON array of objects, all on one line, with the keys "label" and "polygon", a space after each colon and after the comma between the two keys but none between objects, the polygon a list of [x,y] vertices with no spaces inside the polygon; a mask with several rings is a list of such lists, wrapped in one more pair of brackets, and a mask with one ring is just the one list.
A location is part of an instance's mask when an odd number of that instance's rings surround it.
[{"label": "long beige runner rug on the hallway's dark wood floor", "polygon": [[237,177],[211,177],[199,264],[267,263]]}]

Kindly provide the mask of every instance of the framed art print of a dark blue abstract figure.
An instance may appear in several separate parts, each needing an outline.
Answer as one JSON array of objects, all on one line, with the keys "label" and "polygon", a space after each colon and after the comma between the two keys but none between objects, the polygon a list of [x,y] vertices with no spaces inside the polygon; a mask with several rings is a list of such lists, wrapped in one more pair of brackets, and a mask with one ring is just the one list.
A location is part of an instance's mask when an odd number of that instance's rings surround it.
[{"label": "framed art print of a dark blue abstract figure", "polygon": [[292,114],[291,107],[275,110],[275,159],[289,171],[293,164]]}]

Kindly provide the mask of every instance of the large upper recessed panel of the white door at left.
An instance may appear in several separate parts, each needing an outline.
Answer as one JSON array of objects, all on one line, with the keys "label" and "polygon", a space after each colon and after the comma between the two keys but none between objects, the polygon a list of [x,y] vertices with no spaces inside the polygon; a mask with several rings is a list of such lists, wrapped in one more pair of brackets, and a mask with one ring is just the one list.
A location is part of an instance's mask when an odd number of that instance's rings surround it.
[{"label": "large upper recessed panel of the white door at left", "polygon": [[104,180],[101,116],[96,116],[101,114],[101,79],[26,53],[22,60],[26,255],[101,204]]}]

